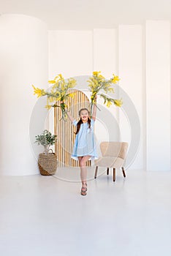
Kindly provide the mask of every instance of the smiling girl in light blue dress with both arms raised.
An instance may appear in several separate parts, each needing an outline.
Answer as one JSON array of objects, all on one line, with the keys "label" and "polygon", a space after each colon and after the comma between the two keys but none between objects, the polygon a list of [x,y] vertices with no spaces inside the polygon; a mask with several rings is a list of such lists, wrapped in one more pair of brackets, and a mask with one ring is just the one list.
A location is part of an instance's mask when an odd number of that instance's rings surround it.
[{"label": "smiling girl in light blue dress with both arms raised", "polygon": [[69,112],[67,112],[72,124],[77,127],[75,132],[75,144],[72,151],[72,158],[79,161],[80,165],[80,178],[82,181],[81,195],[86,195],[87,191],[87,168],[86,162],[88,159],[97,159],[95,140],[94,140],[94,121],[96,120],[96,104],[94,104],[94,110],[92,118],[89,117],[89,111],[87,108],[82,108],[79,111],[80,120],[77,122]]}]

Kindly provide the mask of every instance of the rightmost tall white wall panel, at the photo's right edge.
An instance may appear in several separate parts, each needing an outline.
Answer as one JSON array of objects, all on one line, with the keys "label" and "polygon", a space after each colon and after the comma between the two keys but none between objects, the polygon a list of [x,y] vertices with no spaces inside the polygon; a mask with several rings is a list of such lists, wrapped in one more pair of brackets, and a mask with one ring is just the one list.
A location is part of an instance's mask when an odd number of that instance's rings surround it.
[{"label": "rightmost tall white wall panel, at the photo's right edge", "polygon": [[147,170],[170,170],[170,22],[146,22]]}]

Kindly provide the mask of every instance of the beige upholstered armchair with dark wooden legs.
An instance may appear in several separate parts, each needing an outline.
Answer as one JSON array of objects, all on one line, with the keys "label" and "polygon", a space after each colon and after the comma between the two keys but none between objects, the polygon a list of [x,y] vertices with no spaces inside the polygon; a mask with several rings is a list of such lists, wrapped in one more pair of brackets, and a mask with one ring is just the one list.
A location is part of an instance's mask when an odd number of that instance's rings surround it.
[{"label": "beige upholstered armchair with dark wooden legs", "polygon": [[122,169],[123,176],[126,177],[124,170],[124,162],[126,160],[126,152],[128,149],[128,143],[115,142],[115,141],[103,141],[100,143],[100,149],[102,157],[95,160],[95,175],[96,178],[98,167],[107,167],[107,175],[109,175],[109,168],[113,167],[113,181],[115,181],[115,169]]}]

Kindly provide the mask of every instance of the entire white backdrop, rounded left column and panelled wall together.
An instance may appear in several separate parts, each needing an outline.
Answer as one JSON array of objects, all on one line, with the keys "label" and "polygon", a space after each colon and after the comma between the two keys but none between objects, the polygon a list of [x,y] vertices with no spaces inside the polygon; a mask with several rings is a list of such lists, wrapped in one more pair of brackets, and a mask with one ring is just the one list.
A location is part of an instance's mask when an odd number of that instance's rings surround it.
[{"label": "entire white backdrop, rounded left column and panelled wall together", "polygon": [[[38,172],[29,141],[30,117],[37,102],[31,84],[45,88],[47,80],[59,73],[69,78],[91,75],[94,70],[107,78],[118,74],[119,85],[137,109],[141,143],[130,168],[170,170],[170,22],[148,20],[144,26],[47,34],[46,24],[37,18],[1,15],[0,37],[1,174]],[[118,108],[110,108],[110,113],[118,121],[121,140],[130,143],[129,121]],[[99,129],[99,140],[103,130]]]}]

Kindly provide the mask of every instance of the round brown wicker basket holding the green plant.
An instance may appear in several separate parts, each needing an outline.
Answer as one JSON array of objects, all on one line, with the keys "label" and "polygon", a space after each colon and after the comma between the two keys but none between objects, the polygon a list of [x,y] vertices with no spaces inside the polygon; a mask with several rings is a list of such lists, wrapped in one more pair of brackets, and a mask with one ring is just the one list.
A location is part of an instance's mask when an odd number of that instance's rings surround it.
[{"label": "round brown wicker basket holding the green plant", "polygon": [[38,159],[39,171],[42,175],[50,176],[56,173],[57,157],[54,153],[39,154]]}]

